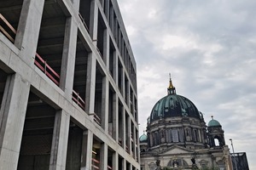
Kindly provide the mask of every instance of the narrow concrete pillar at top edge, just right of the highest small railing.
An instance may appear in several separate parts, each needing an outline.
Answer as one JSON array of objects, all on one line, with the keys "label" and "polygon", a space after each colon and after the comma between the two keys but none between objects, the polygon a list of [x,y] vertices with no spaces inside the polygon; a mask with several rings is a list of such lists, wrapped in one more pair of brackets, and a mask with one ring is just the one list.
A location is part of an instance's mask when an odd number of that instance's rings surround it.
[{"label": "narrow concrete pillar at top edge, just right of the highest small railing", "polygon": [[90,28],[89,28],[89,32],[90,32],[90,37],[92,39],[92,41],[95,43],[96,45],[96,40],[97,40],[97,28],[98,28],[98,7],[96,4],[96,0],[91,0],[90,2]]}]

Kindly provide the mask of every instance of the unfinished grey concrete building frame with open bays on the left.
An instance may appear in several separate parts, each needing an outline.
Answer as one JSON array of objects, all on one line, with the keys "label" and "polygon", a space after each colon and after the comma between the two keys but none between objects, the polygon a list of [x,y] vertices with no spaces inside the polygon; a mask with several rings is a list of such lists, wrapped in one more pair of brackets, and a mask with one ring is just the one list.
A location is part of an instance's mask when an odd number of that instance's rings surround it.
[{"label": "unfinished grey concrete building frame with open bays on the left", "polygon": [[116,0],[0,3],[0,169],[139,169],[136,62]]}]

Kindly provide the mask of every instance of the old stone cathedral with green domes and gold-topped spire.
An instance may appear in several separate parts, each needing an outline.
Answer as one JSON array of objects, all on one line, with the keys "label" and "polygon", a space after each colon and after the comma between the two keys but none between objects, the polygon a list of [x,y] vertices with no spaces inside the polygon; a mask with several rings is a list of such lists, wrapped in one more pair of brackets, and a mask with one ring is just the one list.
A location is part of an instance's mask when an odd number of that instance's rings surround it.
[{"label": "old stone cathedral with green domes and gold-topped spire", "polygon": [[176,94],[171,78],[167,95],[148,117],[147,134],[139,140],[142,170],[232,169],[221,124],[213,116],[206,124],[196,106]]}]

